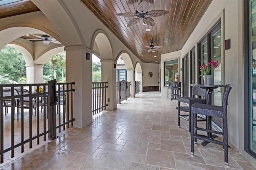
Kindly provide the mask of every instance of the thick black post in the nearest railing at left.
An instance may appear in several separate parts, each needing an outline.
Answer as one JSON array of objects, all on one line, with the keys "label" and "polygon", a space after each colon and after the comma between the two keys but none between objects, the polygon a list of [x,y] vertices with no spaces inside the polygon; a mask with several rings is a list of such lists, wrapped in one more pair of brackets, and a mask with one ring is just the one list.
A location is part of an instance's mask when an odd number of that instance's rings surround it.
[{"label": "thick black post in the nearest railing at left", "polygon": [[56,96],[56,80],[48,81],[47,109],[48,109],[48,129],[49,129],[48,138],[50,140],[54,140],[55,138],[57,138],[57,134],[56,134],[57,101],[58,99]]}]

